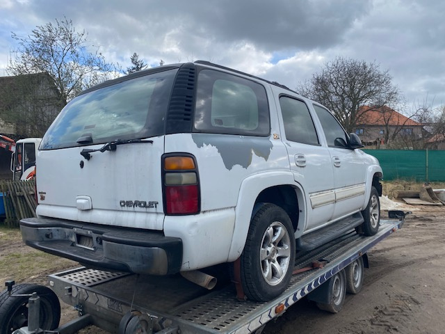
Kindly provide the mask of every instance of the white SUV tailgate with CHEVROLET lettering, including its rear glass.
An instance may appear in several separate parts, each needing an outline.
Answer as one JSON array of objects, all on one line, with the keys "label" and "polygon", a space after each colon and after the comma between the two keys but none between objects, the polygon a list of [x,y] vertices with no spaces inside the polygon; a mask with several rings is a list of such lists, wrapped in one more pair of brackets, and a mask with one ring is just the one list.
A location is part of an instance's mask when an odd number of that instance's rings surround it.
[{"label": "white SUV tailgate with CHEVROLET lettering, including its rear glass", "polygon": [[38,152],[39,216],[162,229],[163,131],[175,73],[112,81],[65,106]]}]

